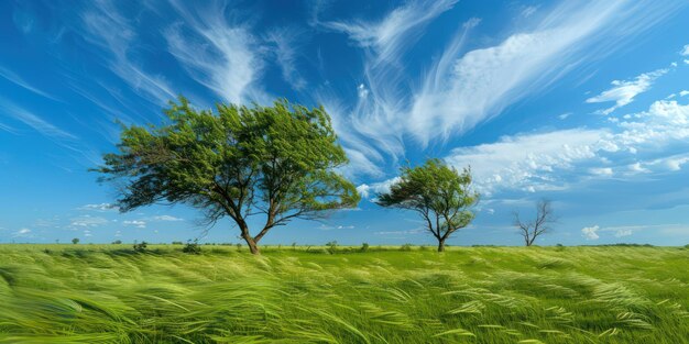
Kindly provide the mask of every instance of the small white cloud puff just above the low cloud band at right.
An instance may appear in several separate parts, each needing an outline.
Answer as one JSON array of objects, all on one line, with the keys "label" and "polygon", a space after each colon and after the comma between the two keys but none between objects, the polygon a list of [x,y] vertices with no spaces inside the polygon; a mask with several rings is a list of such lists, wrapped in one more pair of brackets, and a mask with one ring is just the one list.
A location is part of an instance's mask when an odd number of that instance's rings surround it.
[{"label": "small white cloud puff just above the low cloud band at right", "polygon": [[598,103],[614,101],[615,104],[613,107],[599,111],[601,114],[610,114],[616,109],[634,101],[634,97],[649,90],[653,82],[667,71],[668,69],[658,69],[644,73],[631,81],[614,80],[611,82],[613,86],[611,89],[603,91],[599,96],[587,99],[587,102]]}]

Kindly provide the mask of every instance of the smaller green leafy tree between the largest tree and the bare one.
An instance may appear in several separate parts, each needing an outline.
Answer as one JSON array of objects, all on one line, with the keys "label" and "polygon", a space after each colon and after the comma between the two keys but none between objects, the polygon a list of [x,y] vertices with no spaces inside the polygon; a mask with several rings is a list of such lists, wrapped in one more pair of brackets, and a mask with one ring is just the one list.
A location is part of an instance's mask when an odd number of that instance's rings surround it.
[{"label": "smaller green leafy tree between the largest tree and the bare one", "polygon": [[403,167],[400,180],[390,192],[378,196],[378,204],[418,212],[425,228],[438,240],[438,252],[456,231],[474,218],[479,195],[471,190],[471,171],[462,173],[440,159],[428,159],[423,166]]}]

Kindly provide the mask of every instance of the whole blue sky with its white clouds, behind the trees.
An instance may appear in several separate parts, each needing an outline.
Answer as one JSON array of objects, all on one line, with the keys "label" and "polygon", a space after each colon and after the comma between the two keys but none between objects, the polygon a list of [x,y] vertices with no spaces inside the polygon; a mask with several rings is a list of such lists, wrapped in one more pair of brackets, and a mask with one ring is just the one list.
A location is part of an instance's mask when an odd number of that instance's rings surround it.
[{"label": "whole blue sky with its white clouds, behind the trees", "polygon": [[[194,4],[194,5],[192,5]],[[401,164],[471,165],[477,220],[450,244],[689,243],[689,5],[682,1],[2,1],[0,242],[239,242],[229,222],[120,214],[88,168],[118,125],[184,95],[322,104],[359,208],[262,243],[433,243],[371,202]]]}]

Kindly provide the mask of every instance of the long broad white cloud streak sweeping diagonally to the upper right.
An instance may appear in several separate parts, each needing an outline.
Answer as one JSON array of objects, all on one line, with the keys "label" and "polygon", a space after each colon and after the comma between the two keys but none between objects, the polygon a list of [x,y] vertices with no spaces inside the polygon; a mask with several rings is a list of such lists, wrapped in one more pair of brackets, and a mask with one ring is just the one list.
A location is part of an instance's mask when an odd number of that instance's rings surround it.
[{"label": "long broad white cloud streak sweeping diagonally to the upper right", "polygon": [[663,12],[658,13],[637,4],[597,1],[577,8],[565,2],[535,29],[463,56],[463,33],[458,34],[414,97],[408,133],[422,143],[461,134],[540,91],[575,66],[610,54],[621,45],[611,38],[615,32],[643,30],[668,13],[667,9],[656,9]]}]

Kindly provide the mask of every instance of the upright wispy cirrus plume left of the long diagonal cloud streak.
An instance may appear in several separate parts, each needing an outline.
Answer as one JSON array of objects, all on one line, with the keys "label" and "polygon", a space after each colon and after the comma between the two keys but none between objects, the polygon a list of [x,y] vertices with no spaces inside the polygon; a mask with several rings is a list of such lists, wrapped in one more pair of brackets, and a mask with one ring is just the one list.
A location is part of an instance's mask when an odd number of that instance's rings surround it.
[{"label": "upright wispy cirrus plume left of the long diagonal cloud streak", "polygon": [[364,82],[352,85],[359,96],[356,103],[344,107],[331,95],[317,97],[333,116],[352,174],[380,177],[382,152],[393,160],[404,154],[404,121],[398,116],[406,112],[404,99],[411,90],[400,59],[423,36],[423,29],[456,2],[411,1],[378,21],[316,20],[318,27],[342,32],[364,49]]}]

